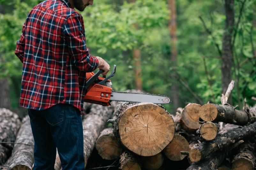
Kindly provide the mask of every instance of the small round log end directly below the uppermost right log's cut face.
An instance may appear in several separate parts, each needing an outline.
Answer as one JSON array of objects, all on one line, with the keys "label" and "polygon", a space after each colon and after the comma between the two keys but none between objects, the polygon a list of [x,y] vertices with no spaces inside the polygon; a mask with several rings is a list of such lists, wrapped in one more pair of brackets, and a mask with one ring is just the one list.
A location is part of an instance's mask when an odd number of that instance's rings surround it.
[{"label": "small round log end directly below the uppermost right log's cut face", "polygon": [[218,133],[218,127],[212,122],[206,122],[200,126],[199,132],[203,139],[212,140]]}]

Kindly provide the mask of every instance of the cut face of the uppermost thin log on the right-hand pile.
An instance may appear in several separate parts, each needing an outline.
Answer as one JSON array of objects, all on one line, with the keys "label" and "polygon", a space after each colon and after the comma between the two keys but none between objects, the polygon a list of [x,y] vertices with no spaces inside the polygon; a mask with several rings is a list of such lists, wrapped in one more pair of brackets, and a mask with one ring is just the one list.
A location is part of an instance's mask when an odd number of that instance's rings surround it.
[{"label": "cut face of the uppermost thin log on the right-hand pile", "polygon": [[218,110],[213,104],[202,105],[199,109],[199,116],[206,122],[211,122],[216,119]]}]

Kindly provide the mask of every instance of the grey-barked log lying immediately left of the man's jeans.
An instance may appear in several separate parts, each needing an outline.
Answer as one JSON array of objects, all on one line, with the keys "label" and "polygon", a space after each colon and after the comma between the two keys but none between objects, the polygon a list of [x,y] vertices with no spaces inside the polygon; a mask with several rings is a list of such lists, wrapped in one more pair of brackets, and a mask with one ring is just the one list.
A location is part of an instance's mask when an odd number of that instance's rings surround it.
[{"label": "grey-barked log lying immediately left of the man's jeans", "polygon": [[22,123],[12,150],[10,170],[31,170],[34,163],[34,138],[29,117],[26,116]]}]

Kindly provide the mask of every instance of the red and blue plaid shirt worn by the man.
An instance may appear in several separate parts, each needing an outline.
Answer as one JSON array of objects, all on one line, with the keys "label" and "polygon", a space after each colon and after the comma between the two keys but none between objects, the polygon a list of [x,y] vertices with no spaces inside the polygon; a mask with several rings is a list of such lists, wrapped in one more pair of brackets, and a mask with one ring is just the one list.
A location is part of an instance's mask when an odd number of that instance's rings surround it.
[{"label": "red and blue plaid shirt worn by the man", "polygon": [[84,114],[86,72],[98,67],[98,59],[68,0],[46,0],[29,12],[15,54],[23,63],[19,106],[43,110],[69,103]]}]

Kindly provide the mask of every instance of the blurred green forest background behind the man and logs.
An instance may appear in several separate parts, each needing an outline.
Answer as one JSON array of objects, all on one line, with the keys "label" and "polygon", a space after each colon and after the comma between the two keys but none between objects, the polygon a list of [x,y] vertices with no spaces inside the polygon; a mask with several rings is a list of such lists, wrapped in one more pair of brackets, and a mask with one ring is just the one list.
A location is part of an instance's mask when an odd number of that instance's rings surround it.
[{"label": "blurred green forest background behind the man and logs", "polygon": [[[28,12],[40,0],[0,0],[0,107],[21,117],[22,63],[14,54]],[[230,104],[256,96],[256,0],[95,0],[81,12],[87,47],[116,75],[115,91],[169,96],[171,113],[188,102]]]}]

